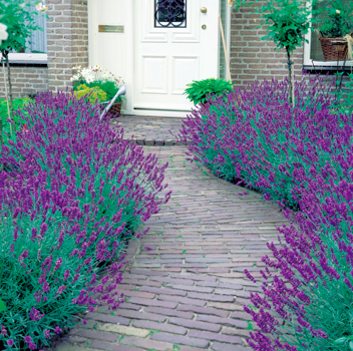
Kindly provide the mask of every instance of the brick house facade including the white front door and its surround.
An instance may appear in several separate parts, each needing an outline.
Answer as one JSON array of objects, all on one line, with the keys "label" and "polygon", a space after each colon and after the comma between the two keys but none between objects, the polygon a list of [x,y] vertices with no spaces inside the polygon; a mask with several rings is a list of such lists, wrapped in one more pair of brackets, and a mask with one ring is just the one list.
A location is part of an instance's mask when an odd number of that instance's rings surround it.
[{"label": "brick house facade including the white front door and its surround", "polygon": [[[124,78],[123,113],[185,116],[191,108],[183,95],[187,83],[229,78],[219,14],[235,85],[287,76],[285,52],[260,39],[265,33],[249,8],[235,12],[228,0],[172,2],[174,12],[170,0],[47,0],[45,31],[32,40],[40,50],[10,56],[15,97],[65,90],[74,66],[99,65]],[[316,33],[307,39],[294,54],[295,75],[336,72],[337,62],[323,61]]]}]

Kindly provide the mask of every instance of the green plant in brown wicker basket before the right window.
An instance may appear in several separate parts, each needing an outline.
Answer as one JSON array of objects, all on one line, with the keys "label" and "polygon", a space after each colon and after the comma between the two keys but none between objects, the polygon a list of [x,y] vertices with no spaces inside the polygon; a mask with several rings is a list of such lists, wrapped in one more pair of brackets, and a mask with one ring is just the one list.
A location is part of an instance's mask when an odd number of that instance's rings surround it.
[{"label": "green plant in brown wicker basket before the right window", "polygon": [[333,0],[325,4],[327,17],[319,28],[319,39],[326,61],[352,59],[353,1]]}]

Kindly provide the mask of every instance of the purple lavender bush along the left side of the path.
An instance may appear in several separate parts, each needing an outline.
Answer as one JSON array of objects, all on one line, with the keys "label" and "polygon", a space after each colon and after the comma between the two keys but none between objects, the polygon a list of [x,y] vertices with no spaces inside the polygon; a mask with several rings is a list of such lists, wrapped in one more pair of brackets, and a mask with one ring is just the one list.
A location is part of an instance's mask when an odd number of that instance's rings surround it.
[{"label": "purple lavender bush along the left side of the path", "polygon": [[126,240],[170,197],[167,165],[89,102],[47,93],[25,112],[0,158],[1,349],[49,346],[78,313],[118,308]]}]

